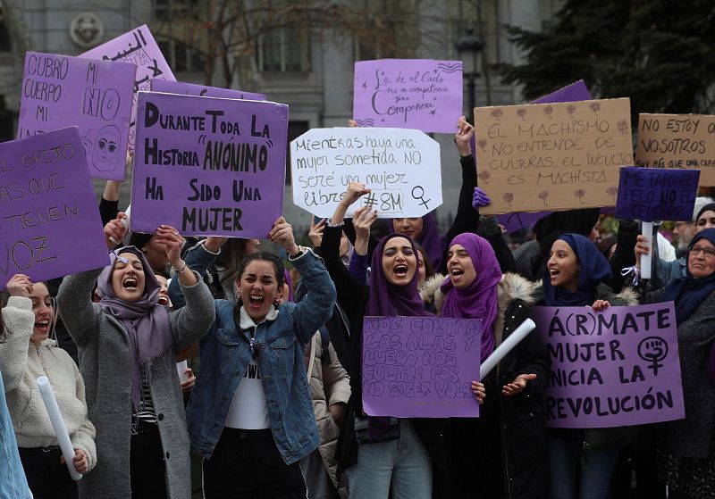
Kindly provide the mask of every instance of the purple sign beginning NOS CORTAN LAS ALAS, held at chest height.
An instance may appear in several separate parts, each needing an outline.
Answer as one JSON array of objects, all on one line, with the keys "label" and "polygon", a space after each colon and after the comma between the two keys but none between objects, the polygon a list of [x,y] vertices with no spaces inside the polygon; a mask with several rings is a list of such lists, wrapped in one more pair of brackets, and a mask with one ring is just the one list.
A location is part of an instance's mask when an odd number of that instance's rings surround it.
[{"label": "purple sign beginning NOS CORTAN LAS ALAS, held at chest height", "polygon": [[363,409],[370,416],[475,418],[482,320],[366,317]]}]

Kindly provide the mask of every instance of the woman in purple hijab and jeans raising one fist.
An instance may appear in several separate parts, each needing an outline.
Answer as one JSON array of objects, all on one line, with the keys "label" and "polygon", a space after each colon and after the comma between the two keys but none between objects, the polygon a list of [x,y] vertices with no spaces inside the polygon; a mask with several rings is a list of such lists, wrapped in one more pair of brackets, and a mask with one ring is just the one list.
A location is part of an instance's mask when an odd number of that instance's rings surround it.
[{"label": "woman in purple hijab and jeans raising one fist", "polygon": [[[362,408],[363,318],[376,316],[432,316],[417,292],[414,241],[401,234],[384,237],[374,250],[369,286],[349,275],[339,254],[343,218],[350,204],[370,192],[351,183],[323,234],[321,254],[338,292],[338,302],[349,320],[350,388],[345,427],[339,444],[339,474],[344,470],[350,499],[410,497],[430,499],[433,460],[440,446],[438,432],[422,420],[366,417]],[[443,470],[438,462],[435,469]]]}]

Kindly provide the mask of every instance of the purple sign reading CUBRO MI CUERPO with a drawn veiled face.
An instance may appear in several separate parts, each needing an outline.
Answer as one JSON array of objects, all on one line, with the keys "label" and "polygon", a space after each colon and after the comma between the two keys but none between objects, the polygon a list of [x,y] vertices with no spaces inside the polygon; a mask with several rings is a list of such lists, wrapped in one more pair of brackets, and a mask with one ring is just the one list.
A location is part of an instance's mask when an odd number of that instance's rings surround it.
[{"label": "purple sign reading CUBRO MI CUERPO with a drawn veiled face", "polygon": [[18,138],[77,126],[89,174],[124,179],[136,70],[126,62],[28,52]]}]

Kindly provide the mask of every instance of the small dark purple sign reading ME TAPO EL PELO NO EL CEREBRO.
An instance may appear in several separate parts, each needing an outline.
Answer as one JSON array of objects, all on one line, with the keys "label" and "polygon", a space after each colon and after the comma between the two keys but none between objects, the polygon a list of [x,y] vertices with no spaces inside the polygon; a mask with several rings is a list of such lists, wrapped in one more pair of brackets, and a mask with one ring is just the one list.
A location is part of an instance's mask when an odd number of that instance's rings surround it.
[{"label": "small dark purple sign reading ME TAPO EL PELO NO EL CEREBRO", "polygon": [[699,177],[700,170],[623,167],[618,181],[616,218],[690,221]]}]

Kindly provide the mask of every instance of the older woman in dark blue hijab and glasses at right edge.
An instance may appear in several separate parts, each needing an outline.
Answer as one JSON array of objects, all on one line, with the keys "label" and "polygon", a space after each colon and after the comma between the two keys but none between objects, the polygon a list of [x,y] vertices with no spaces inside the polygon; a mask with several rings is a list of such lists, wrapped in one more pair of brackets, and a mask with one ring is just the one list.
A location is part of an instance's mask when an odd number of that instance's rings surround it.
[{"label": "older woman in dark blue hijab and glasses at right edge", "polygon": [[686,277],[648,302],[674,302],[686,419],[670,421],[659,442],[660,476],[669,498],[715,497],[715,229],[688,245]]}]

